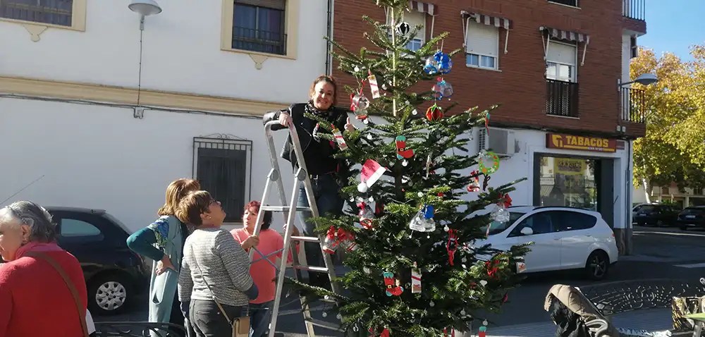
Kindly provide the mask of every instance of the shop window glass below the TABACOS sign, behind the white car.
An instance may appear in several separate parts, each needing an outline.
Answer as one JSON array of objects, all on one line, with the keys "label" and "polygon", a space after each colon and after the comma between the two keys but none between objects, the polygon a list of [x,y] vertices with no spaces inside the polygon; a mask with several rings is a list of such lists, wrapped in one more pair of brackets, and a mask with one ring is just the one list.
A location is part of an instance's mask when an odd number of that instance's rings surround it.
[{"label": "shop window glass below the TABACOS sign, behind the white car", "polygon": [[597,210],[595,159],[541,157],[541,206]]}]

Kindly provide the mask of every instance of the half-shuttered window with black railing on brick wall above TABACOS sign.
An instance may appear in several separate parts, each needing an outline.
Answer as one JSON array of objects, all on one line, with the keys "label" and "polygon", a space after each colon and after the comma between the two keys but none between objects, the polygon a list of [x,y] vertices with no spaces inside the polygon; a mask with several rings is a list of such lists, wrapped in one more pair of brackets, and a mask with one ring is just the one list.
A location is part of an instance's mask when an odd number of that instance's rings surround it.
[{"label": "half-shuttered window with black railing on brick wall above TABACOS sign", "polygon": [[546,53],[546,114],[578,117],[577,46],[551,42]]}]

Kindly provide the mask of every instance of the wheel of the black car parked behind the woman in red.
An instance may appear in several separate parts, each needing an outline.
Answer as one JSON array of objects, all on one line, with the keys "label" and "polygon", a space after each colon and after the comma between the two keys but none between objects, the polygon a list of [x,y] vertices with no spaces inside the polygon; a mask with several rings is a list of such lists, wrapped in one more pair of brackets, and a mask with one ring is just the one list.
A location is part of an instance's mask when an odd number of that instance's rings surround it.
[{"label": "wheel of the black car parked behind the woman in red", "polygon": [[90,281],[88,310],[97,316],[119,314],[134,295],[132,284],[119,274],[107,274]]}]

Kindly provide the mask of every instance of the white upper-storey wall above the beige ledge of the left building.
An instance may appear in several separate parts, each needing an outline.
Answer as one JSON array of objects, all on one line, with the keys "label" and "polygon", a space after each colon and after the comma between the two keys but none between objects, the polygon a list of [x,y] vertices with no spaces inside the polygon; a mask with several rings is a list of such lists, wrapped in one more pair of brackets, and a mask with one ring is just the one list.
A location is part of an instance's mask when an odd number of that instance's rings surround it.
[{"label": "white upper-storey wall above the beige ledge of the left building", "polygon": [[[130,1],[87,1],[85,32],[49,27],[32,42],[24,25],[0,20],[0,76],[136,88],[140,18]],[[271,56],[262,69],[248,54],[221,50],[220,0],[159,1],[145,19],[142,89],[262,102],[306,99],[326,70],[327,2],[300,0],[296,59]]]}]

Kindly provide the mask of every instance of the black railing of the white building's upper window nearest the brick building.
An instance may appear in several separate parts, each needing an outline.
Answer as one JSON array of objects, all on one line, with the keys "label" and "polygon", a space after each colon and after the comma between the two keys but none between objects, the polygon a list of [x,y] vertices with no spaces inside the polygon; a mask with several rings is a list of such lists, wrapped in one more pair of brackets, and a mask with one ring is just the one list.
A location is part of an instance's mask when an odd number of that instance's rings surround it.
[{"label": "black railing of the white building's upper window nearest the brick building", "polygon": [[233,49],[286,55],[286,34],[233,27]]}]

